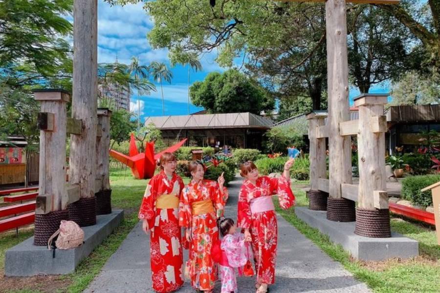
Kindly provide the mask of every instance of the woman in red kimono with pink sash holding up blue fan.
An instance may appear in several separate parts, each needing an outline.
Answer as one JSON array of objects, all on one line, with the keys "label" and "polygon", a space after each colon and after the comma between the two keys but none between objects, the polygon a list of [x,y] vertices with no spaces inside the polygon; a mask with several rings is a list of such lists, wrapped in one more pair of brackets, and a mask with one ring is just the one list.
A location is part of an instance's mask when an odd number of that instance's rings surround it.
[{"label": "woman in red kimono with pink sash holding up blue fan", "polygon": [[267,285],[275,282],[278,226],[272,195],[278,194],[283,209],[295,203],[289,171],[293,163],[294,159],[286,162],[280,178],[260,176],[252,162],[245,162],[241,166],[240,174],[245,180],[239,194],[237,222],[244,229],[245,238],[252,241],[257,293],[267,292]]}]

